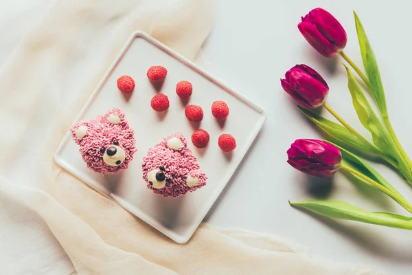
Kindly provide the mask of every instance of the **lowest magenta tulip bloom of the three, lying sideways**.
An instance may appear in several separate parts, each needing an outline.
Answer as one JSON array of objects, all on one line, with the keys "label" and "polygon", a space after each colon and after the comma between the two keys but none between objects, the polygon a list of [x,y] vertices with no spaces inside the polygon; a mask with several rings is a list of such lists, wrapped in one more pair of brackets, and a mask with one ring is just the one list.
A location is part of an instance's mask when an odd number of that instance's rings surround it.
[{"label": "lowest magenta tulip bloom of the three, lying sideways", "polygon": [[317,177],[332,177],[341,167],[339,148],[321,140],[296,140],[288,150],[288,164]]}]

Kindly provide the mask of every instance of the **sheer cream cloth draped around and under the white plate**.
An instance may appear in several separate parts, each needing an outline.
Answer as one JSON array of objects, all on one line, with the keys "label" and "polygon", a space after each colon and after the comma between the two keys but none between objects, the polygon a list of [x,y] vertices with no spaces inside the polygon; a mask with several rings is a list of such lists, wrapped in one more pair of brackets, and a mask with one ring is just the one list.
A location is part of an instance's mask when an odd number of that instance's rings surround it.
[{"label": "sheer cream cloth draped around and under the white plate", "polygon": [[[78,274],[373,274],[325,264],[270,236],[205,224],[178,245],[54,163],[58,143],[133,31],[193,60],[213,13],[210,0],[54,1],[0,73],[1,196],[45,220]],[[0,273],[12,274],[16,264],[2,263]]]}]

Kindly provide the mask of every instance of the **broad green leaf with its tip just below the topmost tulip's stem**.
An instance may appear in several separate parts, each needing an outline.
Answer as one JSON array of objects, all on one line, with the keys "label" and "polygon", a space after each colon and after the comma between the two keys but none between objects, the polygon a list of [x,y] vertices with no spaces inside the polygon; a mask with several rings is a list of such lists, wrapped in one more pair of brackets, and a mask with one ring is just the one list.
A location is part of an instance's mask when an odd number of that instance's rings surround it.
[{"label": "broad green leaf with its tip just below the topmost tulip's stem", "polygon": [[350,94],[352,96],[352,101],[356,113],[358,114],[359,120],[365,128],[371,133],[372,140],[374,144],[380,148],[381,151],[385,153],[397,152],[395,144],[393,144],[389,133],[382,125],[382,122],[378,119],[378,116],[371,108],[371,105],[367,101],[365,94],[359,86],[358,81],[354,78],[350,69],[346,67],[347,72],[347,87],[349,88]]}]

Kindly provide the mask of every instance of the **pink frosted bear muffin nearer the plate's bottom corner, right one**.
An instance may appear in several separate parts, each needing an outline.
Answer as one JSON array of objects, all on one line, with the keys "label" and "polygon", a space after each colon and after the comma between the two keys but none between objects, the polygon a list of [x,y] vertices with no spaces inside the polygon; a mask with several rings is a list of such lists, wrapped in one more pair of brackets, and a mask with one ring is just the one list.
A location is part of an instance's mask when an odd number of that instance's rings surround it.
[{"label": "pink frosted bear muffin nearer the plate's bottom corner, right one", "polygon": [[179,197],[206,184],[207,177],[181,133],[150,148],[141,168],[148,188],[162,197]]}]

